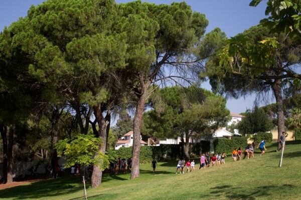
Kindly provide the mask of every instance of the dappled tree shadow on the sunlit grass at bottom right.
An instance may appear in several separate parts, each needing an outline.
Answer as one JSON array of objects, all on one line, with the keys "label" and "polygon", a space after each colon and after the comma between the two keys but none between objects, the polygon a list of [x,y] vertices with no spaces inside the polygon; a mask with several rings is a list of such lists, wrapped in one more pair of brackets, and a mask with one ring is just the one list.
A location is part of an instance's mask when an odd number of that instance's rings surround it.
[{"label": "dappled tree shadow on the sunlit grass at bottom right", "polygon": [[292,184],[283,185],[264,185],[256,188],[236,187],[233,185],[220,185],[210,188],[210,195],[218,198],[225,196],[229,199],[240,200],[255,200],[260,197],[269,196],[275,193],[287,192],[295,186]]}]

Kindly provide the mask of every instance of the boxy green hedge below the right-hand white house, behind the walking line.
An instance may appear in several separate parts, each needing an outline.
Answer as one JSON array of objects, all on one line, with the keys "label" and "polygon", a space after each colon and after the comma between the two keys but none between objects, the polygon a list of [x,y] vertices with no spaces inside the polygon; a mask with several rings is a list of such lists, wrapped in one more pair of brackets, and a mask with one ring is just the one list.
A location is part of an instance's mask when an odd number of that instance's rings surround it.
[{"label": "boxy green hedge below the right-hand white house, behind the walking line", "polygon": [[233,136],[231,139],[216,138],[214,140],[214,151],[218,152],[232,152],[234,148],[241,147],[242,149],[247,144],[247,137]]}]

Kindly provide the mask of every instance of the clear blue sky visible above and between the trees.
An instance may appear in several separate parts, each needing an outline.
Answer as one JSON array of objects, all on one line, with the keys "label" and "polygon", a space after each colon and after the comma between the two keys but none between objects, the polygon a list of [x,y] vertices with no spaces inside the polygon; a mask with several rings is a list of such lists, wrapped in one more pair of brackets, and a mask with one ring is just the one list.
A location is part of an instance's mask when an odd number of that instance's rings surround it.
[{"label": "clear blue sky visible above and between the trees", "polygon": [[[28,8],[37,5],[44,0],[2,0],[0,2],[0,31],[9,26],[19,17],[26,16]],[[128,2],[130,0],[115,0],[116,2]],[[183,0],[142,0],[154,3],[171,3]],[[252,25],[259,23],[264,18],[266,0],[257,7],[250,7],[250,0],[186,0],[192,9],[204,13],[209,20],[207,31],[220,27],[228,36],[242,32]],[[210,89],[208,82],[202,84]],[[233,112],[244,112],[246,108],[252,108],[256,94],[241,97],[239,99],[228,99],[227,107]],[[270,103],[271,97],[260,104]],[[273,100],[272,100],[273,101]]]}]

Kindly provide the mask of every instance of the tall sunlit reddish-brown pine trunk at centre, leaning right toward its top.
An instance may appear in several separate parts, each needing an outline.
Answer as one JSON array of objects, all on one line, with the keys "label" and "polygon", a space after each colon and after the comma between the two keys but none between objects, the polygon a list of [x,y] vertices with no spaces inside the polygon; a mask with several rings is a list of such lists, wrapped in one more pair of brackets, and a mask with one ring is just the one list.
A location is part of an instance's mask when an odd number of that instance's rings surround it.
[{"label": "tall sunlit reddish-brown pine trunk at centre, leaning right toward its top", "polygon": [[138,101],[136,105],[136,111],[133,119],[133,146],[132,146],[132,168],[130,178],[133,179],[140,175],[139,172],[139,156],[140,156],[140,127],[141,127],[141,120],[142,114],[144,111],[145,100],[147,98],[147,89],[150,85],[150,81],[146,83],[142,83],[141,81],[141,90],[140,94],[138,95]]}]

